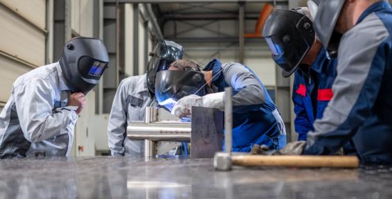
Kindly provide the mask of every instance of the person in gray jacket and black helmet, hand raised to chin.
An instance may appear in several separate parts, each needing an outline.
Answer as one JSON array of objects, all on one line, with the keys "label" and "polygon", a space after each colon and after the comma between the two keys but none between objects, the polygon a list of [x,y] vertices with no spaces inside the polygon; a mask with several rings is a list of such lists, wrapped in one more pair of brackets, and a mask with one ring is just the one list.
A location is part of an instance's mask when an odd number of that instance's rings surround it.
[{"label": "person in gray jacket and black helmet, hand raised to chin", "polygon": [[59,62],[17,78],[0,114],[0,158],[68,156],[85,94],[108,63],[101,40],[76,37]]}]

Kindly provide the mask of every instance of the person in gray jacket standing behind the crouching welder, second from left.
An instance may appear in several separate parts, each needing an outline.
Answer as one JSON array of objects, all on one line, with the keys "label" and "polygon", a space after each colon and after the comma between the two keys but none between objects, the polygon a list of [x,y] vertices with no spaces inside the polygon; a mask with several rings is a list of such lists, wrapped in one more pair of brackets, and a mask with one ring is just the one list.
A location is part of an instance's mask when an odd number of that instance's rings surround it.
[{"label": "person in gray jacket standing behind the crouching welder, second from left", "polygon": [[166,70],[171,62],[182,58],[182,46],[162,40],[150,53],[147,72],[121,81],[114,96],[108,122],[108,145],[112,155],[139,156],[141,141],[126,137],[126,127],[131,121],[143,121],[146,107],[157,106],[155,76]]}]

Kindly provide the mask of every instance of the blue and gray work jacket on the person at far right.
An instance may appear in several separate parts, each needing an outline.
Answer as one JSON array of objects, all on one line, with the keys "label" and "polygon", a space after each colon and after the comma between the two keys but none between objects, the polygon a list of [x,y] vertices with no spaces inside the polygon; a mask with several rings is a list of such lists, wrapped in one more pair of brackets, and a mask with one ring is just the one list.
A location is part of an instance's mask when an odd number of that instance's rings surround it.
[{"label": "blue and gray work jacket on the person at far right", "polygon": [[392,8],[373,3],[343,34],[334,96],[307,134],[305,155],[332,155],[352,139],[364,163],[392,164]]}]

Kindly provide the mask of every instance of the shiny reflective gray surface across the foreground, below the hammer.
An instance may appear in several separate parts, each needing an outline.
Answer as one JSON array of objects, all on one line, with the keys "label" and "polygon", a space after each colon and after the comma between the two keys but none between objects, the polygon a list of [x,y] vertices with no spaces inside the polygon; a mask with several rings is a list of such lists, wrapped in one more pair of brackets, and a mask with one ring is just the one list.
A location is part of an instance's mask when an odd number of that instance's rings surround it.
[{"label": "shiny reflective gray surface across the foreground, below the hammer", "polygon": [[392,168],[234,168],[212,159],[0,161],[0,198],[392,198]]}]

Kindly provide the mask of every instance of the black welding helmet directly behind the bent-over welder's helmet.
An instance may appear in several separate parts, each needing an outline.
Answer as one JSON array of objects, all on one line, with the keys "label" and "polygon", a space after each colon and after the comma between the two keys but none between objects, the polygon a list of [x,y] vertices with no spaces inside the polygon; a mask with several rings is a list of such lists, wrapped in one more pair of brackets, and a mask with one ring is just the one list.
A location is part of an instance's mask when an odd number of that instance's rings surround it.
[{"label": "black welding helmet directly behind the bent-over welder's helmet", "polygon": [[155,76],[157,72],[166,70],[171,62],[182,59],[182,46],[176,42],[162,40],[151,52],[147,64],[147,86],[151,93],[155,92]]}]

